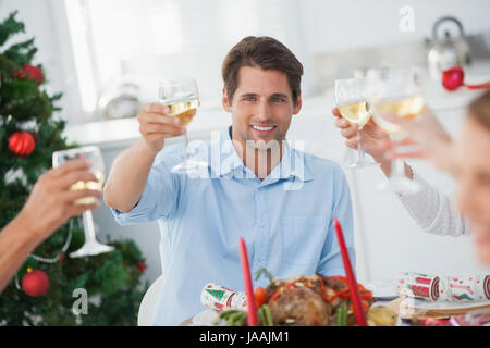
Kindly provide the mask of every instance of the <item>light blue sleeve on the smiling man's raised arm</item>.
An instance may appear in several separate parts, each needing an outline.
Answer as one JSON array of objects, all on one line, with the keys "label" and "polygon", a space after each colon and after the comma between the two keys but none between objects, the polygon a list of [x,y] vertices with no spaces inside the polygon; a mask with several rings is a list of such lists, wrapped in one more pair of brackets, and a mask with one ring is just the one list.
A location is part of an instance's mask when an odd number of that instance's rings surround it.
[{"label": "light blue sleeve on the smiling man's raised arm", "polygon": [[120,225],[132,225],[169,217],[174,212],[180,198],[180,175],[173,174],[171,169],[182,160],[177,148],[170,147],[161,151],[151,166],[139,201],[128,212],[111,208],[114,220]]}]

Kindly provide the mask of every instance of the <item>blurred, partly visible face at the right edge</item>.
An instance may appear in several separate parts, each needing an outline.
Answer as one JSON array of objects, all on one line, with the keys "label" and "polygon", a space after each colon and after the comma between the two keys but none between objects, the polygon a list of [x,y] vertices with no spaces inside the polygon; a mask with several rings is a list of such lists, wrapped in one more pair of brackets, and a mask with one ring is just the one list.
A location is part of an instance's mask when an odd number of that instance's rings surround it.
[{"label": "blurred, partly visible face at the right edge", "polygon": [[460,210],[471,224],[480,262],[490,264],[490,132],[467,117],[457,144]]}]

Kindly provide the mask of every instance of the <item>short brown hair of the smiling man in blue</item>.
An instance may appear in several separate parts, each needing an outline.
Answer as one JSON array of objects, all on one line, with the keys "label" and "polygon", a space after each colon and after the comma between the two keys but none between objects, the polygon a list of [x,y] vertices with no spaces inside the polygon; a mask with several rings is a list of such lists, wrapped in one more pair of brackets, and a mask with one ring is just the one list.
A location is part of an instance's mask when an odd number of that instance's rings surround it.
[{"label": "short brown hair of the smiling man in blue", "polygon": [[278,70],[285,73],[296,105],[301,94],[303,65],[287,47],[267,36],[248,36],[236,44],[228,52],[222,66],[230,104],[238,87],[238,73],[242,66],[259,66],[262,70]]}]

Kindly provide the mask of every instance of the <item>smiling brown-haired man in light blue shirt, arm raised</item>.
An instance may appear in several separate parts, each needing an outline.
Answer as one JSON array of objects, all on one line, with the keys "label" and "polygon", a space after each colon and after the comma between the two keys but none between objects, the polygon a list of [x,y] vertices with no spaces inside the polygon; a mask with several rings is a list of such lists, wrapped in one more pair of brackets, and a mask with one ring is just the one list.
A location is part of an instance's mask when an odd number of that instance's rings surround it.
[{"label": "smiling brown-haired man in light blue shirt, arm raised", "polygon": [[[184,149],[168,107],[145,105],[143,138],[113,162],[105,201],[118,223],[157,220],[163,288],[154,324],[176,325],[205,310],[207,283],[243,290],[238,238],[250,270],[278,278],[344,275],[333,219],[355,266],[348,185],[335,163],[293,149],[285,136],[302,107],[303,66],[281,42],[247,37],[223,62],[223,108],[232,126],[203,142],[197,177],[173,174]],[[254,286],[268,284],[261,277]]]}]

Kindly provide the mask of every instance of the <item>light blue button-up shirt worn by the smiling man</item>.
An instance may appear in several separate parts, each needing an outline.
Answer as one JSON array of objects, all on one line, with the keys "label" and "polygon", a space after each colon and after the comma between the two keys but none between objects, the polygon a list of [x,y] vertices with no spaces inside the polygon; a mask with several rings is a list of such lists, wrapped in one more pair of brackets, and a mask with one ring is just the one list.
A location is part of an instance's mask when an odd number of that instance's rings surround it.
[{"label": "light blue button-up shirt worn by the smiling man", "polygon": [[[177,325],[206,308],[207,283],[244,290],[238,239],[245,239],[252,276],[265,268],[274,277],[344,275],[333,219],[342,224],[355,268],[348,185],[332,161],[284,142],[281,162],[260,181],[236,153],[230,133],[197,144],[208,162],[198,177],[171,173],[183,146],[156,158],[139,202],[112,209],[121,225],[158,221],[163,287],[155,325]],[[268,285],[261,276],[254,287]]]}]

